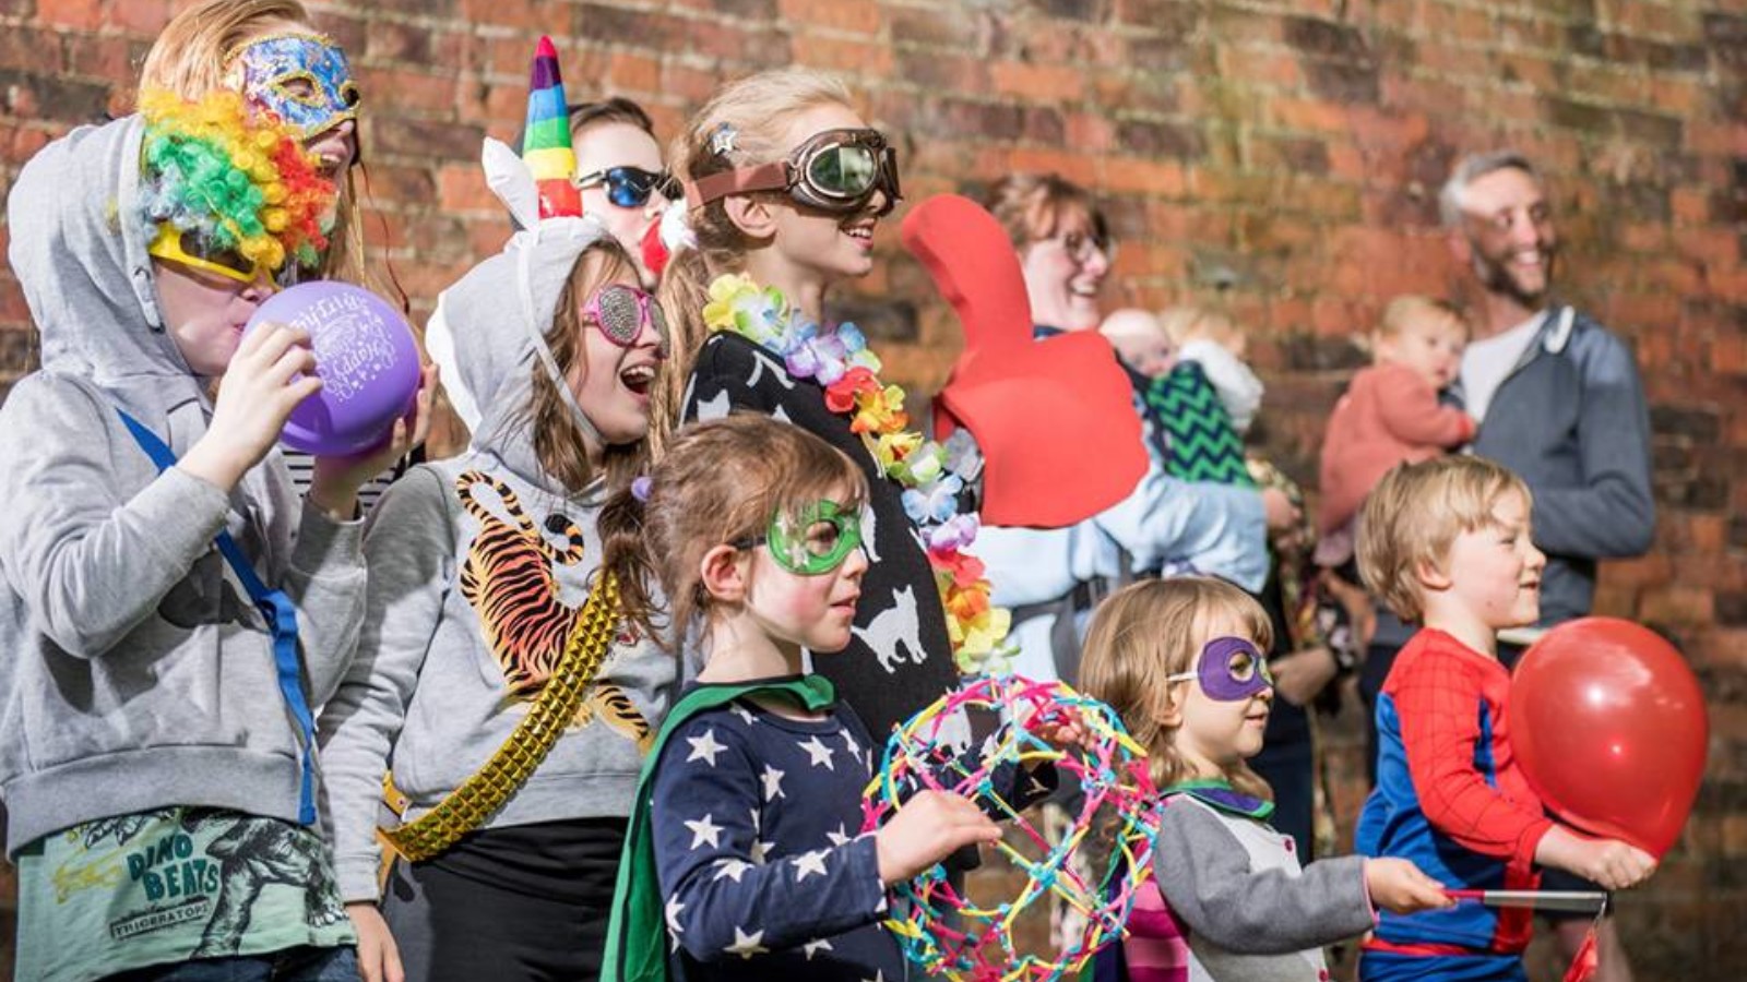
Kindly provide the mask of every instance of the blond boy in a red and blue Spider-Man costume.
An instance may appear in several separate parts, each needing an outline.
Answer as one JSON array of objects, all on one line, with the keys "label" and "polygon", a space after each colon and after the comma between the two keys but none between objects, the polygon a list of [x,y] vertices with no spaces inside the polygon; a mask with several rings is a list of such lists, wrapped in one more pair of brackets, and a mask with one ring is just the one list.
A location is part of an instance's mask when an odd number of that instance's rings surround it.
[{"label": "blond boy in a red and blue Spider-Man costume", "polygon": [[[1536,889],[1541,865],[1625,889],[1656,860],[1550,819],[1511,751],[1511,676],[1497,633],[1541,613],[1546,556],[1530,540],[1529,514],[1522,479],[1471,456],[1401,465],[1366,500],[1364,585],[1422,629],[1377,699],[1377,786],[1356,846],[1420,861],[1450,886]],[[1467,903],[1385,914],[1359,977],[1523,980],[1529,914]]]}]

